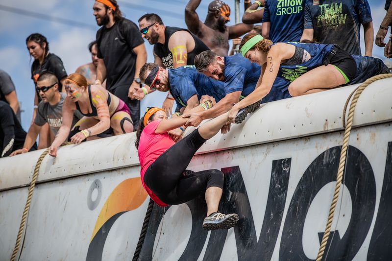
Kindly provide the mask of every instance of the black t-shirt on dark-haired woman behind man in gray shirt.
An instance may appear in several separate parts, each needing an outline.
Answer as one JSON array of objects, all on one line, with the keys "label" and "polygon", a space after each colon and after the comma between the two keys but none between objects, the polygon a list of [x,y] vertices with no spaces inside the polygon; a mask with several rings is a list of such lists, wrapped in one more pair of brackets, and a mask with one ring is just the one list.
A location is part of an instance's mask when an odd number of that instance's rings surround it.
[{"label": "black t-shirt on dark-haired woman behind man in gray shirt", "polygon": [[[50,71],[54,73],[58,80],[58,90],[61,92],[63,86],[60,80],[67,76],[67,72],[65,71],[63,61],[61,61],[60,57],[55,55],[54,53],[49,53],[42,65],[40,66],[40,62],[35,60],[31,65],[31,79],[33,79],[35,86],[37,86],[37,79],[41,73],[44,71]],[[37,90],[35,90],[37,92]],[[38,94],[38,100],[41,101],[40,95]]]}]

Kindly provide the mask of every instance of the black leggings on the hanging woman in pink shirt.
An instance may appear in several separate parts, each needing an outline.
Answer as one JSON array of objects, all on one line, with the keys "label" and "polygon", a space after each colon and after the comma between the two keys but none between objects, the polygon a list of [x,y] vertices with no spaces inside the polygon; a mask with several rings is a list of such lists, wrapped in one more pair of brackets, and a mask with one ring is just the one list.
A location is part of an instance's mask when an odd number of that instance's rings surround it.
[{"label": "black leggings on the hanging woman in pink shirt", "polygon": [[185,203],[209,187],[223,189],[224,176],[218,169],[185,175],[186,167],[205,142],[198,129],[162,153],[144,174],[144,182],[160,200],[169,205]]}]

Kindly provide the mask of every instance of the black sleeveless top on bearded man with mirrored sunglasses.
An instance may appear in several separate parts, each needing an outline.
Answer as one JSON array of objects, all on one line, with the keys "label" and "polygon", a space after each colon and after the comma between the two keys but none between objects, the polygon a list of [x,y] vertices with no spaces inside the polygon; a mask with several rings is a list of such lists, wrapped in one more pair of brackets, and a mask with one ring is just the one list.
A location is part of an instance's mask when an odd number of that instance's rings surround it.
[{"label": "black sleeveless top on bearded man with mirrored sunglasses", "polygon": [[187,65],[195,65],[195,56],[202,51],[209,50],[209,48],[189,30],[178,27],[166,26],[165,28],[165,44],[156,43],[154,45],[155,54],[162,59],[163,65],[167,68],[173,68],[173,56],[169,49],[169,39],[173,33],[177,31],[187,31],[195,40],[195,48],[188,52]]}]

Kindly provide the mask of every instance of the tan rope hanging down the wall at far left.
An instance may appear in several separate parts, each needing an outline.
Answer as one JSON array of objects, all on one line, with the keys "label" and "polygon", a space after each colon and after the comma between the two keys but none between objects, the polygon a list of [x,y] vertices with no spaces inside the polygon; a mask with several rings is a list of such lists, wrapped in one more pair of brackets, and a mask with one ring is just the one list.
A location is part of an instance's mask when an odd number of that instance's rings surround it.
[{"label": "tan rope hanging down the wall at far left", "polygon": [[[63,145],[68,145],[68,144],[72,144],[72,143],[71,142],[64,142],[62,144],[62,146]],[[15,261],[16,254],[18,254],[19,246],[21,244],[21,238],[22,238],[22,235],[23,235],[23,231],[25,230],[25,225],[26,225],[26,221],[27,221],[27,214],[28,214],[28,212],[30,210],[31,198],[33,196],[35,183],[37,182],[37,178],[38,178],[38,172],[40,170],[41,163],[44,160],[45,156],[48,154],[48,152],[49,152],[49,148],[44,150],[44,152],[42,152],[41,156],[38,158],[37,163],[35,164],[33,177],[31,179],[31,183],[30,183],[30,188],[28,189],[25,210],[23,211],[23,214],[22,214],[21,225],[19,226],[19,232],[18,232],[18,236],[16,237],[14,251],[12,252],[11,259],[10,259],[11,261]]]}]

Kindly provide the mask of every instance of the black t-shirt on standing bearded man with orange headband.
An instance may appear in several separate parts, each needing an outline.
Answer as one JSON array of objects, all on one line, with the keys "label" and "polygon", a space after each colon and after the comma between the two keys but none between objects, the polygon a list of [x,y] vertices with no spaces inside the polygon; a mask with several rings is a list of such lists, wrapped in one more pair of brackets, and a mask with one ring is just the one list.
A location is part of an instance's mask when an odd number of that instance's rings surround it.
[{"label": "black t-shirt on standing bearded man with orange headband", "polygon": [[143,44],[135,23],[128,19],[112,27],[102,26],[97,32],[98,58],[106,67],[106,89],[113,92],[117,86],[130,86],[135,76],[136,54],[133,48]]}]

